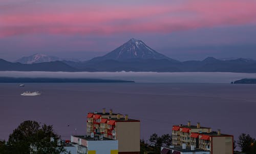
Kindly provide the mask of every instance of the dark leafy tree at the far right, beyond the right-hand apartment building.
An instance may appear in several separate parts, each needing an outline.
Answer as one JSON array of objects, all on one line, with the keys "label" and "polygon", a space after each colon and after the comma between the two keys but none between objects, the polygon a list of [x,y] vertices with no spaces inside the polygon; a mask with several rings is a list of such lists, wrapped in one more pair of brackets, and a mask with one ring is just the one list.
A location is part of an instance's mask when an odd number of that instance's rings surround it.
[{"label": "dark leafy tree at the far right, beyond the right-hand apartment building", "polygon": [[238,146],[241,148],[242,152],[249,153],[251,151],[252,145],[255,139],[251,138],[249,134],[241,134],[237,142]]}]

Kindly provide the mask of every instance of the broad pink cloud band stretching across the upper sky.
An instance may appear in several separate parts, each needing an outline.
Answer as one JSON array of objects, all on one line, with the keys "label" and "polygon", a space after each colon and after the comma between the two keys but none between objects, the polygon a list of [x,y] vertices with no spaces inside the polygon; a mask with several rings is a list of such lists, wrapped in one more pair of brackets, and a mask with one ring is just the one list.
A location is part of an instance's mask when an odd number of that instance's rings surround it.
[{"label": "broad pink cloud band stretching across the upper sky", "polygon": [[[170,5],[35,6],[0,14],[0,37],[24,34],[110,35],[171,33],[197,28],[256,23],[254,1],[185,1]],[[25,10],[23,10],[25,9]],[[64,10],[64,11],[63,11]]]}]

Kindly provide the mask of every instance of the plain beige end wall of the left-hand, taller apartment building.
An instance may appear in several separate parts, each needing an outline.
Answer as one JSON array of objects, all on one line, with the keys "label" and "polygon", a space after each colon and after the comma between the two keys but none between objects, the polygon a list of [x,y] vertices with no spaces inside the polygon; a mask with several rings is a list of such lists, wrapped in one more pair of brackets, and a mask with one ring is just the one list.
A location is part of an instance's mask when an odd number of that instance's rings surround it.
[{"label": "plain beige end wall of the left-hand, taller apartment building", "polygon": [[116,122],[116,139],[119,153],[140,151],[140,122]]}]

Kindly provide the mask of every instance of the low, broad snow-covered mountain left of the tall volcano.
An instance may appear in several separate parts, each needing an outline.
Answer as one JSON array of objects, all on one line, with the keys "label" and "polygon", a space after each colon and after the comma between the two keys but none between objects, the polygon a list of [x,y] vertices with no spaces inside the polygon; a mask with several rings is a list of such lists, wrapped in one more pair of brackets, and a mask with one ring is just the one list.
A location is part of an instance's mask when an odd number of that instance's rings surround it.
[{"label": "low, broad snow-covered mountain left of the tall volcano", "polygon": [[32,56],[22,57],[16,60],[15,62],[31,64],[31,63],[50,62],[50,61],[58,61],[58,60],[61,61],[62,59],[54,56],[47,56],[45,54],[34,54]]}]

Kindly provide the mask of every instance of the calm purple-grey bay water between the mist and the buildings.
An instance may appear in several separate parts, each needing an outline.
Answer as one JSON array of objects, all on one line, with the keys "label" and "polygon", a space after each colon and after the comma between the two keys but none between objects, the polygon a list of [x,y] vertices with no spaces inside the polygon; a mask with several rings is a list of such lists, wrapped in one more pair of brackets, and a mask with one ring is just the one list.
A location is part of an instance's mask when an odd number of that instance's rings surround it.
[{"label": "calm purple-grey bay water between the mist and the buildings", "polygon": [[[41,96],[20,96],[40,91]],[[0,139],[21,122],[52,124],[56,133],[86,133],[88,112],[113,108],[141,120],[141,138],[171,133],[172,125],[193,124],[256,137],[256,85],[222,83],[0,83]],[[69,125],[69,126],[68,126]]]}]

